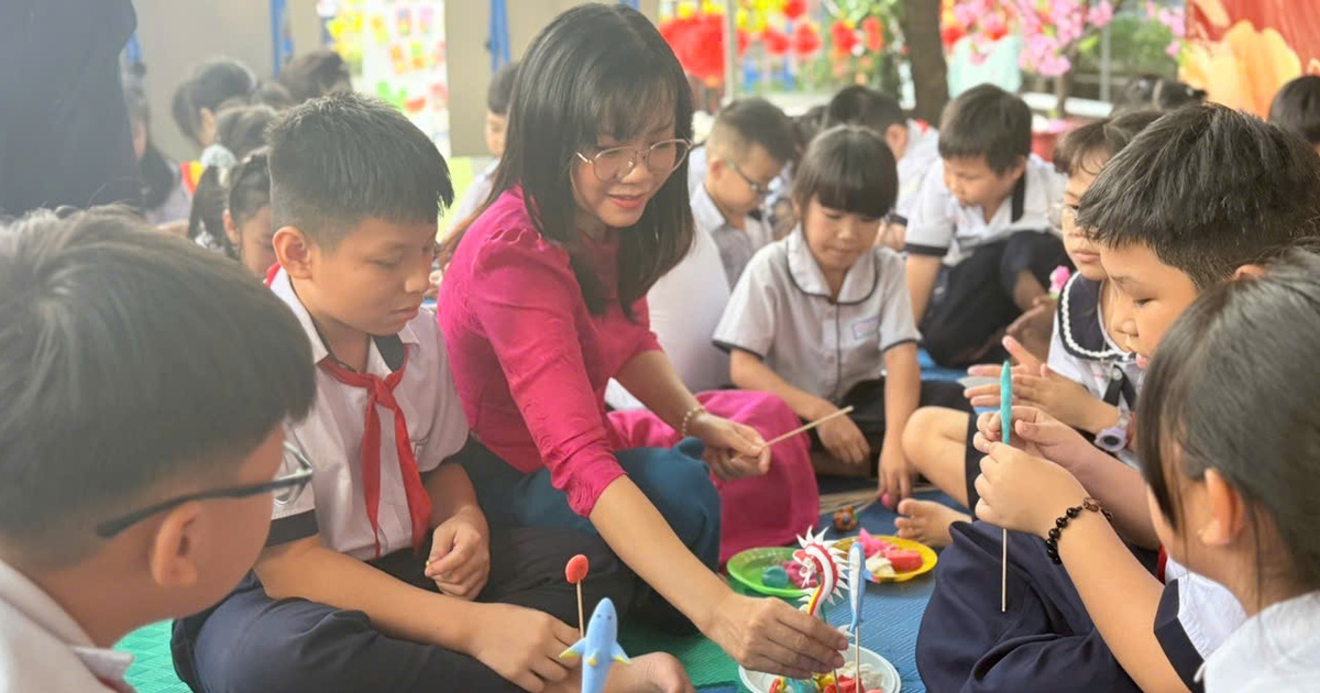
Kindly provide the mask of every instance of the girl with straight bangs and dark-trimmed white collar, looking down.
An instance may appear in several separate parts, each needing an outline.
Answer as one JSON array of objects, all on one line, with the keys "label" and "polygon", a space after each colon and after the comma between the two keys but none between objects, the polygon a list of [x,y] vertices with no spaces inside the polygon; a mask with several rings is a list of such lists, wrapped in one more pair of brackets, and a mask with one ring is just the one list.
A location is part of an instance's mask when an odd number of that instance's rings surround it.
[{"label": "girl with straight bangs and dark-trimmed white collar, looking down", "polygon": [[879,492],[894,503],[912,491],[902,445],[912,412],[972,412],[956,383],[921,381],[903,259],[875,247],[896,195],[878,135],[820,135],[793,178],[801,224],[752,257],[715,329],[739,388],[779,395],[808,421],[853,407],[816,429],[816,469],[859,477],[878,459]]}]

